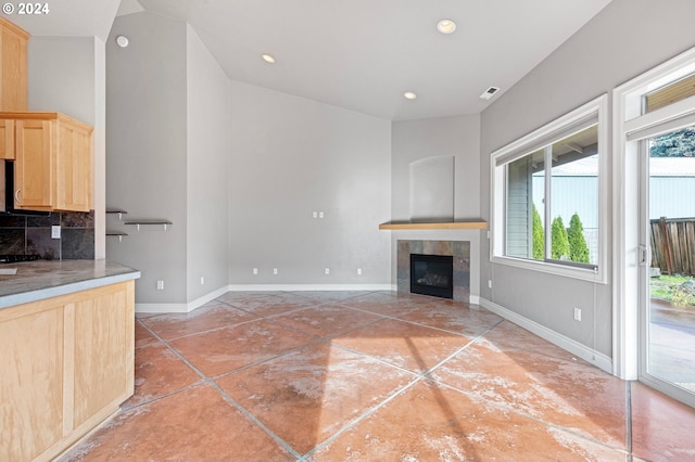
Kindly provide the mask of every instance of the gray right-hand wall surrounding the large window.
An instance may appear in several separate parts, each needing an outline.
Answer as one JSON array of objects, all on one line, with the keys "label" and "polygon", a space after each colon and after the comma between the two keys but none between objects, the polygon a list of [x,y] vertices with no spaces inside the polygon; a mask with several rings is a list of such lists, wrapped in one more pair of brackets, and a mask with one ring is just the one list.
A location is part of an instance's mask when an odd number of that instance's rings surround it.
[{"label": "gray right-hand wall surrounding the large window", "polygon": [[[480,164],[483,218],[490,219],[492,152],[695,46],[693,17],[692,0],[614,0],[484,111]],[[610,206],[611,197],[603,200]],[[488,240],[483,240],[481,252],[489,255]],[[491,266],[488,258],[481,260],[480,269],[482,297],[611,356],[611,283],[594,285]],[[488,279],[493,280],[492,290]],[[581,323],[573,321],[572,307],[583,308]]]}]

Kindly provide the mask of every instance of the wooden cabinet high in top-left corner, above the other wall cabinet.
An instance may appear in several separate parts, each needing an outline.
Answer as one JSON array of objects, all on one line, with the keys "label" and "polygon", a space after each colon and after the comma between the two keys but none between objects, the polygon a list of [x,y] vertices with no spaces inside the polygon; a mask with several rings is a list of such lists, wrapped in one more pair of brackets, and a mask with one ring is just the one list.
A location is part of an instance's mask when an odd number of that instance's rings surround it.
[{"label": "wooden cabinet high in top-left corner, above the other wall cabinet", "polygon": [[26,111],[26,42],[29,34],[0,17],[0,111]]}]

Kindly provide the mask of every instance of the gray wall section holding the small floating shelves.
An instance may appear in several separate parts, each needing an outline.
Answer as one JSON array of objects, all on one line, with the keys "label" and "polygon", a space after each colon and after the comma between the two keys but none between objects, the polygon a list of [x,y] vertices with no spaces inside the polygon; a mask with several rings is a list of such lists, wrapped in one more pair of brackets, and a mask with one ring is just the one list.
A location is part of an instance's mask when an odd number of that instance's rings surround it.
[{"label": "gray wall section holding the small floating shelves", "polygon": [[[115,44],[118,35],[128,48]],[[124,220],[174,223],[138,232],[108,217],[109,229],[129,235],[110,238],[106,257],[142,273],[136,303],[187,299],[186,49],[186,24],[150,13],[116,17],[106,43],[106,205],[127,210]]]}]

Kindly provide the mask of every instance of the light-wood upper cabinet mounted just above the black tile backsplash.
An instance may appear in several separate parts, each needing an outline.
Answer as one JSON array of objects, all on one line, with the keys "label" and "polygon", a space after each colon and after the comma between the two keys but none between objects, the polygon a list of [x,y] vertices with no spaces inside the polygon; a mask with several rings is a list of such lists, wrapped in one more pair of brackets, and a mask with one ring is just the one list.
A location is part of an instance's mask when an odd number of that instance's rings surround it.
[{"label": "light-wood upper cabinet mounted just above the black tile backsplash", "polygon": [[[8,128],[14,128],[13,143]],[[14,147],[14,207],[25,210],[89,211],[92,128],[60,113],[0,113],[4,144]],[[2,139],[2,137],[0,137]]]}]

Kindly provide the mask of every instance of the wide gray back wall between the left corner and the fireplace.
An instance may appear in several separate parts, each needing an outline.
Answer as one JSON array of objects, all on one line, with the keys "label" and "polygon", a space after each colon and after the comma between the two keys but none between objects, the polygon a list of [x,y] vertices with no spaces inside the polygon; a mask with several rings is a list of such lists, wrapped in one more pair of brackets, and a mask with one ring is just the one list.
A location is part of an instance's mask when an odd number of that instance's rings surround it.
[{"label": "wide gray back wall between the left corner and the fireplace", "polygon": [[391,123],[238,81],[231,90],[230,282],[389,284],[378,224],[390,218]]}]

